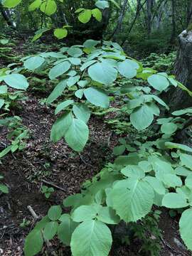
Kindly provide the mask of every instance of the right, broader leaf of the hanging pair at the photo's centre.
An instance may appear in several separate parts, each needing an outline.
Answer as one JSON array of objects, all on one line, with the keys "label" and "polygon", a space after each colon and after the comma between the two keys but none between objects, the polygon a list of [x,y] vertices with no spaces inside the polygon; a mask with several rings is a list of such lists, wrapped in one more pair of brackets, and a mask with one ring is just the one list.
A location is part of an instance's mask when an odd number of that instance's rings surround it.
[{"label": "right, broader leaf of the hanging pair at the photo's centre", "polygon": [[73,119],[65,133],[65,141],[75,151],[82,151],[89,137],[87,124],[80,119]]}]

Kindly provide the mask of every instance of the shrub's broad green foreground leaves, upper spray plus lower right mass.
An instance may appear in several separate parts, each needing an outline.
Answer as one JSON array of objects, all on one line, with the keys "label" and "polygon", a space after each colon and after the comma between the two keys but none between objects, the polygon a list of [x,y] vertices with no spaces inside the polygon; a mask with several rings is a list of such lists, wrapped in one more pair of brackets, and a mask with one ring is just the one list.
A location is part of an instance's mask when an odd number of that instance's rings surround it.
[{"label": "shrub's broad green foreground leaves, upper spray plus lower right mass", "polygon": [[[61,48],[58,53],[39,53],[24,60],[23,68],[36,70],[46,63],[51,67],[50,80],[61,79],[49,95],[48,104],[73,88],[70,100],[58,102],[55,114],[61,114],[53,124],[51,139],[57,142],[65,137],[72,149],[82,151],[89,134],[90,105],[108,108],[109,95],[124,98],[127,117],[138,131],[156,122],[159,137],[151,141],[141,137],[129,144],[122,139],[120,151],[115,150],[117,155],[125,154],[85,183],[81,193],[65,198],[63,205],[71,208],[70,214],[62,215],[60,206],[52,206],[48,216],[26,238],[25,253],[36,255],[44,240],[58,235],[65,245],[70,245],[74,256],[106,256],[112,245],[110,226],[121,220],[137,222],[153,205],[185,209],[180,232],[192,249],[188,233],[192,228],[192,149],[173,142],[176,132],[185,125],[183,117],[191,115],[191,108],[157,119],[161,109],[169,110],[159,97],[161,92],[171,86],[186,88],[174,76],[143,68],[141,63],[128,58],[117,43],[105,41],[96,47],[99,43],[88,40],[82,46]],[[137,86],[127,82],[121,87],[118,81],[122,78],[143,82]]]}]

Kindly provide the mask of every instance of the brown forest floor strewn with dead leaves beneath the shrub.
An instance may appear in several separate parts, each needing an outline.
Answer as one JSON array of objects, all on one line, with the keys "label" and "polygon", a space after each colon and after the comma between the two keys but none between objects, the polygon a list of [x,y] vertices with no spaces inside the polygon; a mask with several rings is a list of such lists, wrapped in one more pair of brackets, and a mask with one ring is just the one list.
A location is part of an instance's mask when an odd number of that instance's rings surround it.
[{"label": "brown forest floor strewn with dead leaves beneath the shrub", "polygon": [[[11,53],[26,53],[25,42],[19,41]],[[1,54],[1,53],[0,53]],[[9,61],[0,58],[0,68]],[[44,92],[43,92],[44,93]],[[41,95],[42,96],[42,95]],[[45,98],[48,95],[43,95]],[[23,242],[35,220],[28,206],[38,217],[46,215],[51,205],[62,203],[66,196],[78,193],[82,182],[97,174],[107,161],[113,159],[112,148],[117,144],[115,134],[105,122],[105,117],[93,116],[90,120],[90,140],[81,154],[74,153],[64,142],[50,142],[50,127],[55,117],[52,107],[41,104],[40,94],[28,92],[28,99],[21,102],[21,110],[14,110],[23,124],[30,131],[26,149],[8,154],[0,162],[0,171],[4,183],[9,186],[9,193],[0,193],[0,255],[23,255]],[[6,144],[6,129],[0,129],[0,142]],[[2,144],[0,145],[0,149]],[[41,193],[41,186],[54,187],[55,191],[46,199]],[[161,208],[159,228],[162,230],[162,256],[191,255],[178,235],[178,220],[171,218]],[[21,227],[23,220],[29,220],[26,227]],[[152,239],[152,238],[151,238]],[[135,239],[131,245],[114,242],[110,255],[149,255],[139,252],[140,242]],[[43,255],[70,255],[70,249],[63,247],[57,240],[44,248]]]}]

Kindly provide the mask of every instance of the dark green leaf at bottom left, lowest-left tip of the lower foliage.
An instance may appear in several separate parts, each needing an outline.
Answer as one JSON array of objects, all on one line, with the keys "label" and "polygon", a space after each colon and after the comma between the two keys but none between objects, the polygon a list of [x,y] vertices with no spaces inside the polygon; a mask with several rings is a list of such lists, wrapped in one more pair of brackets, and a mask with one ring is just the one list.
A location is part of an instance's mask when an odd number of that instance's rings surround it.
[{"label": "dark green leaf at bottom left, lowest-left tip of the lower foliage", "polygon": [[26,236],[24,252],[26,256],[37,255],[43,247],[41,230],[33,230]]}]

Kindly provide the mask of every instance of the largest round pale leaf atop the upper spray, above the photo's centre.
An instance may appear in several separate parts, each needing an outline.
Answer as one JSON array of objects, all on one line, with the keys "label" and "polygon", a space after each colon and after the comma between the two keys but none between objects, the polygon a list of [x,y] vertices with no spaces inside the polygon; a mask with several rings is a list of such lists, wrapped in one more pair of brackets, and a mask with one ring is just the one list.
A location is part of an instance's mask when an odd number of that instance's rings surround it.
[{"label": "largest round pale leaf atop the upper spray, above the photo's centre", "polygon": [[92,80],[100,82],[104,85],[110,85],[117,78],[117,70],[112,68],[110,64],[95,63],[90,66],[88,73]]}]

